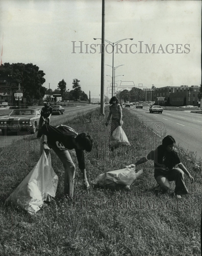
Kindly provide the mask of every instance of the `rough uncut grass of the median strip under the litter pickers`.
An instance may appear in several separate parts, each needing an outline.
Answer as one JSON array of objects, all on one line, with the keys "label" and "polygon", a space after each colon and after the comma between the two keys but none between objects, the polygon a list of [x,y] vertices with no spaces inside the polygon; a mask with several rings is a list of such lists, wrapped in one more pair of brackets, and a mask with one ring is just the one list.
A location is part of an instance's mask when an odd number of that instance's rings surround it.
[{"label": "rough uncut grass of the median strip under the litter pickers", "polygon": [[[106,113],[107,114],[107,113]],[[136,129],[138,119],[124,116],[123,129],[129,141],[144,142],[145,133]],[[121,169],[132,164],[145,154],[143,146],[117,148],[110,157],[108,147],[100,155],[98,125],[93,128],[89,120],[100,121],[100,132],[107,132],[99,110],[68,120],[67,125],[80,132],[89,132],[94,139],[92,152],[85,153],[86,172],[89,182],[99,174]],[[54,121],[56,122],[56,121]],[[55,125],[56,123],[53,123]],[[64,123],[65,124],[65,123]],[[97,127],[97,128],[96,128]],[[131,129],[133,127],[133,129]],[[91,129],[93,128],[93,129]],[[149,132],[149,127],[148,127]],[[162,134],[164,136],[165,134]],[[98,138],[99,137],[99,138]],[[157,144],[160,144],[157,137]],[[154,146],[154,145],[151,145]],[[185,183],[190,191],[182,200],[168,194],[155,196],[153,162],[148,161],[144,173],[137,178],[131,189],[101,189],[90,187],[86,193],[74,151],[70,151],[76,165],[74,199],[72,204],[63,196],[63,166],[51,151],[52,167],[59,177],[54,200],[45,203],[35,215],[20,209],[5,206],[5,199],[30,172],[40,158],[40,142],[36,134],[31,135],[30,162],[11,161],[9,156],[18,157],[18,147],[7,147],[0,152],[0,255],[1,256],[156,256],[156,255],[200,255],[201,218],[201,166],[193,152],[178,147],[182,163],[190,171],[195,182]],[[105,158],[106,156],[106,158]],[[9,165],[16,166],[12,167]],[[29,168],[30,167],[30,168]],[[138,169],[142,166],[138,167]],[[172,190],[174,184],[172,182]]]}]

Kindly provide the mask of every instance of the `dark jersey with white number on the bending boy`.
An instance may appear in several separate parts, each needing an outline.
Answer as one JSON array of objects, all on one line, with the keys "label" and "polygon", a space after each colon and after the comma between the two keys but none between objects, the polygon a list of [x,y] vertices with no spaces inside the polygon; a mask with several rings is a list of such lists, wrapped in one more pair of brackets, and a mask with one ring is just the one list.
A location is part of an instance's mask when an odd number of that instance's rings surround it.
[{"label": "dark jersey with white number on the bending boy", "polygon": [[47,142],[50,146],[57,147],[59,150],[71,150],[74,148],[79,168],[85,169],[84,151],[79,150],[73,142],[73,138],[78,135],[73,128],[62,124],[56,127],[44,124],[41,128],[41,132],[47,136]]}]

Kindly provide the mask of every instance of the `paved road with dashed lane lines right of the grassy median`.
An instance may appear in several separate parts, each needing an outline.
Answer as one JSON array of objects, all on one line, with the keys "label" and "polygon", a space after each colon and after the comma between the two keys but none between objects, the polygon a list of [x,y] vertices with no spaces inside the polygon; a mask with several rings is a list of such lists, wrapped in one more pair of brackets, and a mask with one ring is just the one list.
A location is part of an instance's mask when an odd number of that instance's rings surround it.
[{"label": "paved road with dashed lane lines right of the grassy median", "polygon": [[[133,109],[129,110],[130,112]],[[165,124],[167,135],[175,138],[176,145],[196,153],[197,159],[202,158],[202,115],[189,111],[163,110],[162,114],[149,113],[148,107],[138,109],[134,113],[142,114],[143,121],[161,121]],[[159,133],[160,135],[160,133]]]}]

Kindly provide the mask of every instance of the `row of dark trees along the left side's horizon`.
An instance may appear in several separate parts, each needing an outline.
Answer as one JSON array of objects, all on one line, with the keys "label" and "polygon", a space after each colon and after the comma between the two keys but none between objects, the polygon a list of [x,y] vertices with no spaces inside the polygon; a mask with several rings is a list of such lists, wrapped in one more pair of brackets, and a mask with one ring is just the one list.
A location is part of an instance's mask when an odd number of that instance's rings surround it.
[{"label": "row of dark trees along the left side's horizon", "polygon": [[61,94],[62,100],[88,100],[87,94],[81,90],[80,80],[73,79],[72,90],[69,91],[67,83],[62,79],[53,91],[43,86],[46,81],[44,76],[44,71],[32,63],[4,63],[0,66],[0,80],[6,80],[8,83],[19,81],[23,98],[26,98],[27,102],[42,100],[45,94],[51,92]]}]

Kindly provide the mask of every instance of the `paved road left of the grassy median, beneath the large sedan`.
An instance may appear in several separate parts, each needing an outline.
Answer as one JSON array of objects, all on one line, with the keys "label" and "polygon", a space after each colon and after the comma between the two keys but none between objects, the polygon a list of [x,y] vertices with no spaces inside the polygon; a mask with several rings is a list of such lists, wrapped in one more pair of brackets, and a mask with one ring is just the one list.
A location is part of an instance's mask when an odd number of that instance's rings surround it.
[{"label": "paved road left of the grassy median, beneath the large sedan", "polygon": [[[51,125],[63,124],[68,119],[72,119],[73,117],[77,117],[77,114],[87,113],[96,108],[100,108],[100,105],[84,105],[84,106],[75,106],[75,107],[67,107],[65,108],[65,112],[63,115],[52,115],[51,116]],[[1,113],[1,112],[0,112]],[[36,131],[37,132],[37,131]],[[34,136],[34,135],[26,135],[26,136]],[[0,147],[8,145],[11,142],[18,142],[20,135],[16,135],[16,133],[9,131],[6,136],[2,135],[0,130]]]}]

